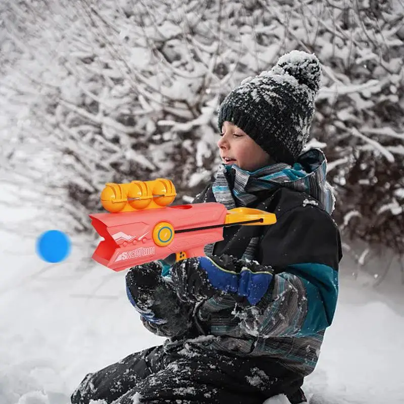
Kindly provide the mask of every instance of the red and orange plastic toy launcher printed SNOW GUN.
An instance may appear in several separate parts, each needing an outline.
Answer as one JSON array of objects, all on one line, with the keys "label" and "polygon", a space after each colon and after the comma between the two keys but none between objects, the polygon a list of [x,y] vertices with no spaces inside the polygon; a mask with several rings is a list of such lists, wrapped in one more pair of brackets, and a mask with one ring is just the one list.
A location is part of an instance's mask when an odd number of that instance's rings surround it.
[{"label": "red and orange plastic toy launcher printed SNOW GUN", "polygon": [[110,213],[90,215],[104,238],[92,258],[122,271],[174,253],[176,261],[202,257],[206,244],[223,240],[223,227],[276,223],[273,213],[250,208],[228,211],[216,202],[169,207],[176,195],[174,184],[164,178],[106,184],[101,203]]}]

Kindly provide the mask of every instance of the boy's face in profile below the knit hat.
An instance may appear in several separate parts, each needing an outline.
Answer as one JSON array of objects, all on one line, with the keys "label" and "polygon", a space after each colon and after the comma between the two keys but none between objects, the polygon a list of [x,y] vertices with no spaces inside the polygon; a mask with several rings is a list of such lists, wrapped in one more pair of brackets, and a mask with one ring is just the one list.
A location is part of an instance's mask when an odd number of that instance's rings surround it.
[{"label": "boy's face in profile below the knit hat", "polygon": [[255,171],[271,162],[266,151],[238,126],[228,121],[223,123],[218,146],[223,163],[236,164],[243,170]]}]

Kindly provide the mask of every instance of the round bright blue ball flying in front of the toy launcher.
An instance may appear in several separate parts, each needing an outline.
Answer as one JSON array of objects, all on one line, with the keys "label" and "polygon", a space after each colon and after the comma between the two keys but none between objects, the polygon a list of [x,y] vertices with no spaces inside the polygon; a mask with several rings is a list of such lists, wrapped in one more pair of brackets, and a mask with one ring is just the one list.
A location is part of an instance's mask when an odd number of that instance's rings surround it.
[{"label": "round bright blue ball flying in front of the toy launcher", "polygon": [[70,254],[71,242],[67,234],[60,230],[48,230],[36,241],[36,252],[46,262],[57,263]]}]

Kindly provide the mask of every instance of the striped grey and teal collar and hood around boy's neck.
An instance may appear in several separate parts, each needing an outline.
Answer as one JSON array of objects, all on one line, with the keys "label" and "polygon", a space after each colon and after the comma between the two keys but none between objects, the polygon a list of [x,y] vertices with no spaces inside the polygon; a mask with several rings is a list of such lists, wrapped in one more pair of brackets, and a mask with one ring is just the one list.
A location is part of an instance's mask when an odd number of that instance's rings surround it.
[{"label": "striped grey and teal collar and hood around boy's neck", "polygon": [[[331,185],[326,181],[326,173],[327,161],[323,152],[311,149],[300,155],[293,166],[276,163],[250,172],[236,165],[223,164],[216,173],[212,191],[217,202],[233,209],[254,204],[258,200],[258,191],[288,187],[308,193],[331,214],[335,198]],[[234,178],[234,184],[229,183],[230,178]],[[250,240],[243,259],[254,259],[258,242],[259,237]],[[212,252],[213,244],[207,245],[205,253],[209,255]]]}]

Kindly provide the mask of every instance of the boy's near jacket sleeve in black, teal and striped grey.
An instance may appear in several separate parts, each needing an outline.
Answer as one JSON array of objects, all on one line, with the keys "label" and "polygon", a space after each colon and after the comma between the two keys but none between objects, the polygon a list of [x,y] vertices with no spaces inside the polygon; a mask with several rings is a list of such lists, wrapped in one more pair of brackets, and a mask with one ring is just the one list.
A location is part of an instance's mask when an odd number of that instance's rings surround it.
[{"label": "boy's near jacket sleeve in black, teal and striped grey", "polygon": [[245,329],[271,337],[327,328],[337,303],[340,257],[339,232],[326,212],[311,205],[285,212],[262,239],[259,260],[275,274],[257,310],[246,309]]}]

